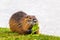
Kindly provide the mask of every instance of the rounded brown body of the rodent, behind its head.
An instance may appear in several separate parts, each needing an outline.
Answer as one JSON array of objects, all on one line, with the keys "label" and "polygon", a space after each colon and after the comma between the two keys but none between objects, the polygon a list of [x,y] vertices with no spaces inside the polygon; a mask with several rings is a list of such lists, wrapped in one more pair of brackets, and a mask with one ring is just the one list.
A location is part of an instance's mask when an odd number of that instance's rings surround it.
[{"label": "rounded brown body of the rodent, behind its head", "polygon": [[21,34],[23,33],[21,31],[22,28],[20,29],[21,26],[19,26],[20,25],[19,21],[26,15],[27,15],[26,13],[19,11],[19,12],[14,13],[11,16],[11,18],[9,20],[9,26],[10,26],[11,31],[13,31],[13,32],[19,32],[20,31]]}]

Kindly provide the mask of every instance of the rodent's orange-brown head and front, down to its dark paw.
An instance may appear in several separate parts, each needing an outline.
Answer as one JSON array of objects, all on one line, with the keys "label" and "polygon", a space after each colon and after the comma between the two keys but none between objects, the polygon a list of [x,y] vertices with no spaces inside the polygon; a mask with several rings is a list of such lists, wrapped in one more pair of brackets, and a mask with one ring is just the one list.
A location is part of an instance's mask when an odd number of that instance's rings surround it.
[{"label": "rodent's orange-brown head and front, down to its dark paw", "polygon": [[22,24],[24,33],[31,34],[33,25],[35,25],[38,21],[35,16],[26,15],[20,20],[20,22]]}]

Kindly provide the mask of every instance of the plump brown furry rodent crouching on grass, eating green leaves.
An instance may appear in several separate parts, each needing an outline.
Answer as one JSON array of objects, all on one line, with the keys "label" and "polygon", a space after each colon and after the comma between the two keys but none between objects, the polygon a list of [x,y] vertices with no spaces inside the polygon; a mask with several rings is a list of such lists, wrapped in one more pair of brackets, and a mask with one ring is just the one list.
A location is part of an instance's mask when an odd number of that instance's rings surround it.
[{"label": "plump brown furry rodent crouching on grass, eating green leaves", "polygon": [[[34,21],[35,20],[35,21]],[[18,32],[20,34],[31,34],[32,26],[38,22],[35,16],[27,15],[23,11],[14,13],[10,20],[9,26],[12,32]],[[37,30],[35,33],[38,33]]]}]

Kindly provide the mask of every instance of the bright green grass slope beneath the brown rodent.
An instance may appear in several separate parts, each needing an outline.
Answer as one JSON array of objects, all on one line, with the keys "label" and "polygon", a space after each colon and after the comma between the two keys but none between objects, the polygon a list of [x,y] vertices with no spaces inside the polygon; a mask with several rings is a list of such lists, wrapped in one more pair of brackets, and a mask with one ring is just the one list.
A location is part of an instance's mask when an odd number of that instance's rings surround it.
[{"label": "bright green grass slope beneath the brown rodent", "polygon": [[44,34],[20,35],[8,28],[0,28],[0,40],[60,40],[60,37]]}]

